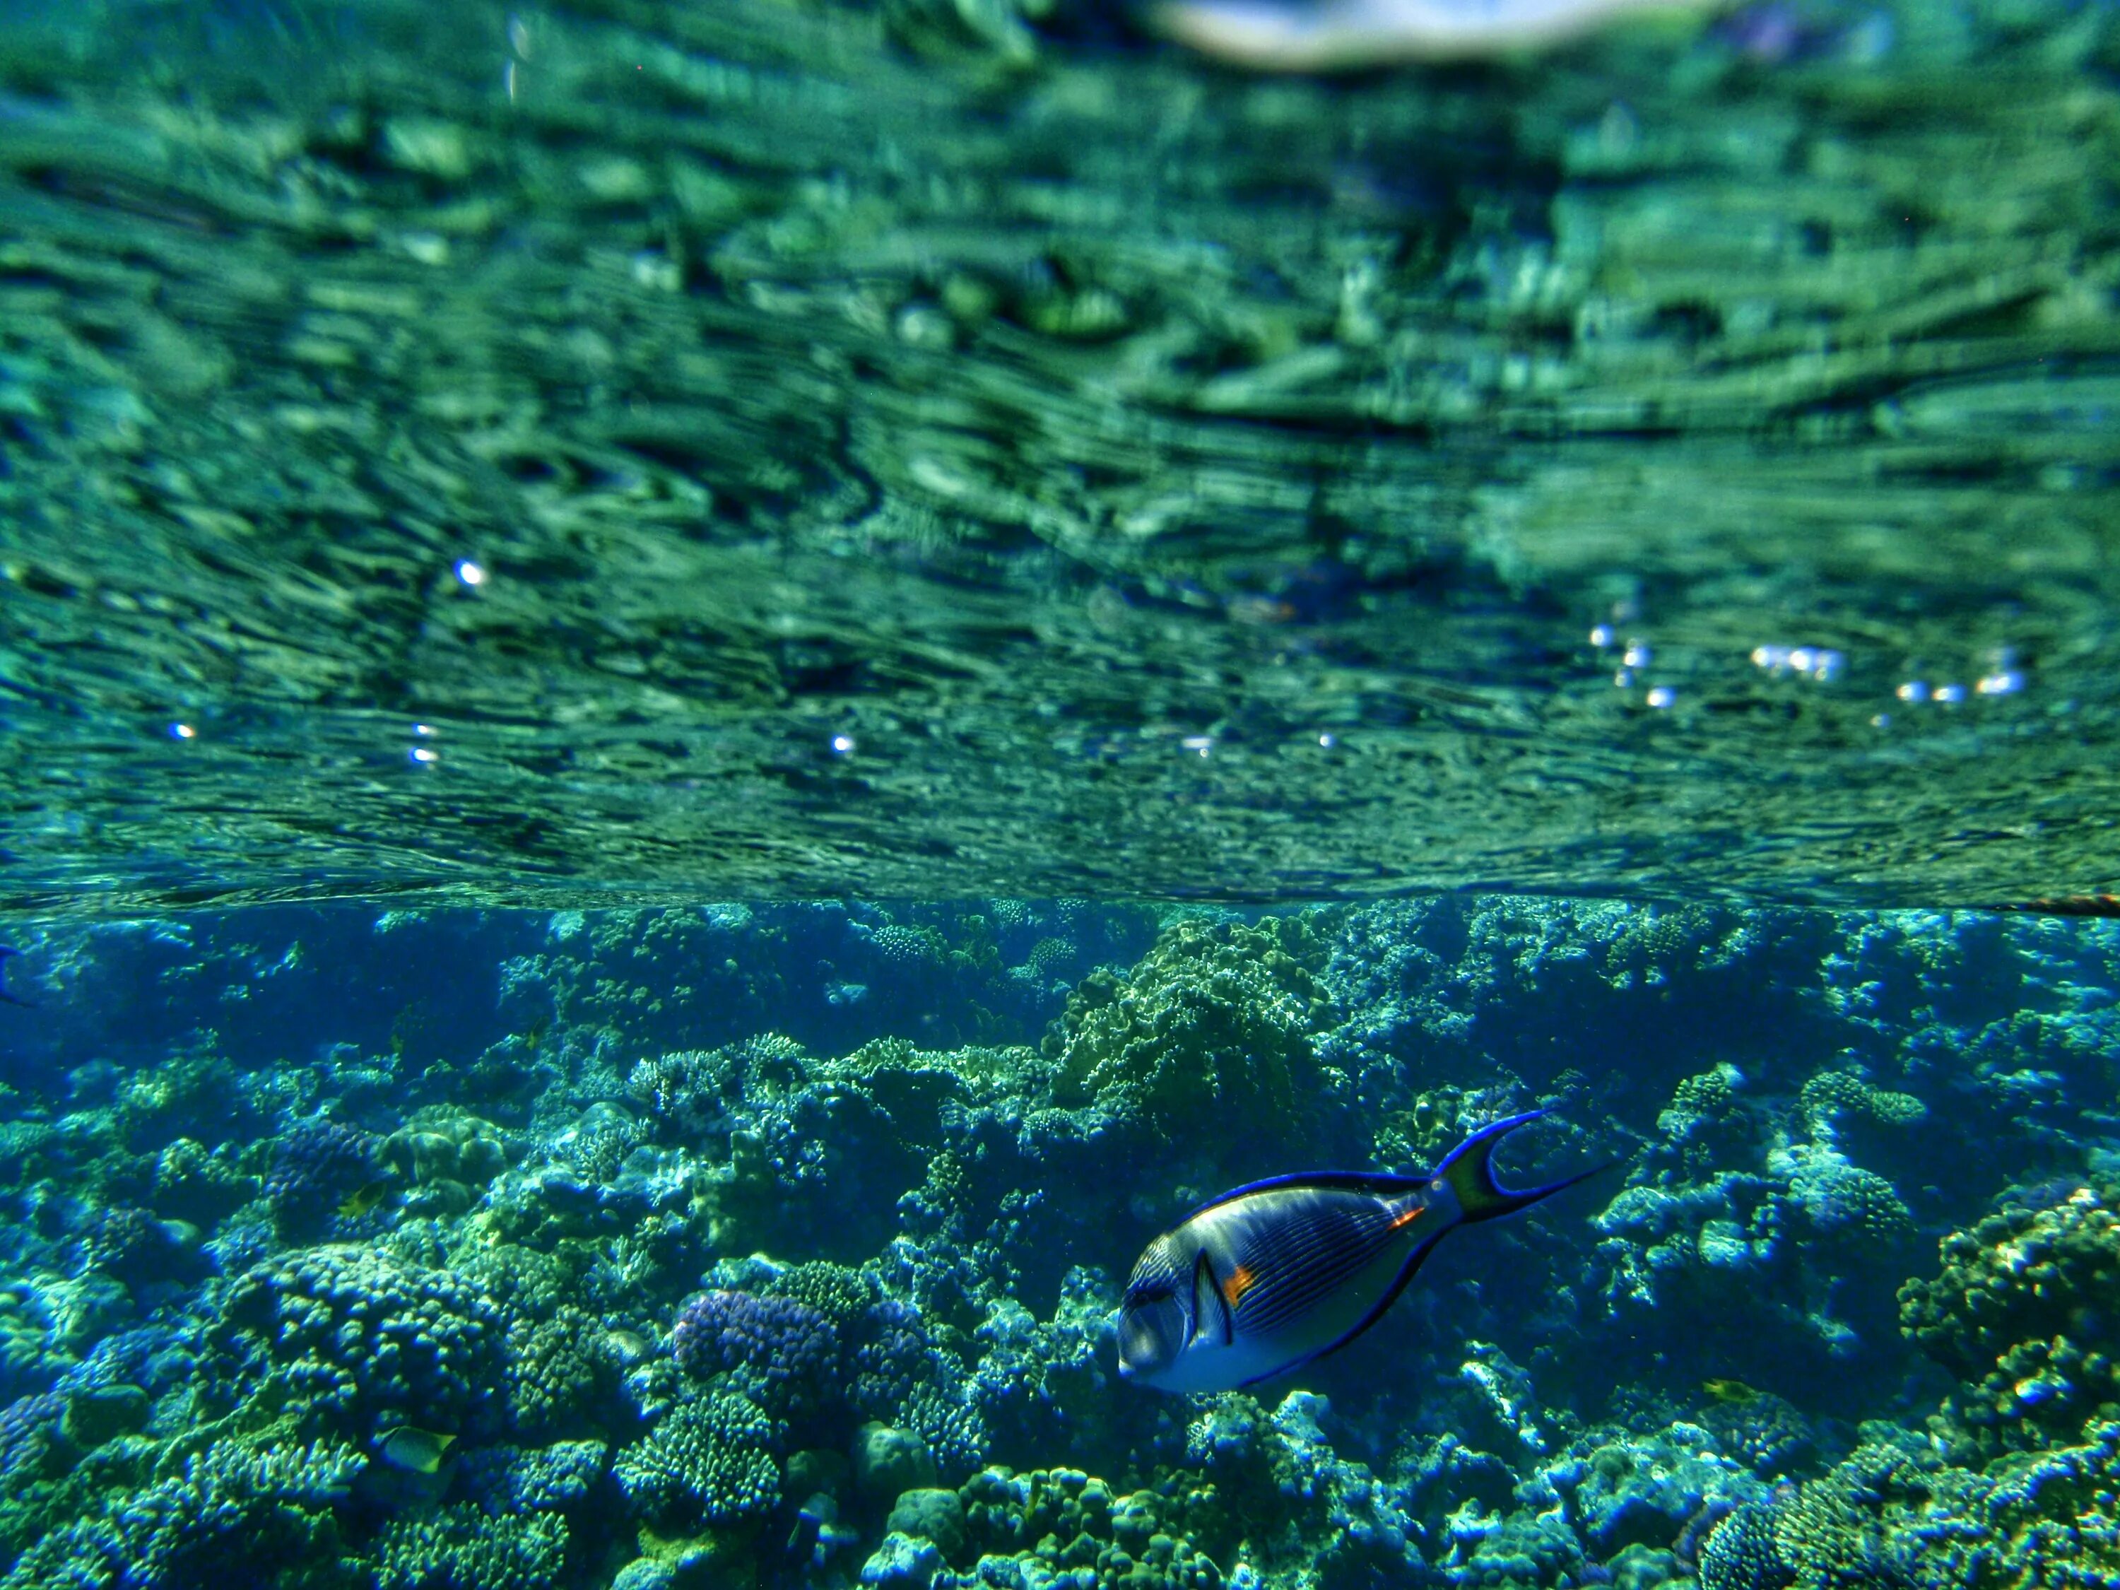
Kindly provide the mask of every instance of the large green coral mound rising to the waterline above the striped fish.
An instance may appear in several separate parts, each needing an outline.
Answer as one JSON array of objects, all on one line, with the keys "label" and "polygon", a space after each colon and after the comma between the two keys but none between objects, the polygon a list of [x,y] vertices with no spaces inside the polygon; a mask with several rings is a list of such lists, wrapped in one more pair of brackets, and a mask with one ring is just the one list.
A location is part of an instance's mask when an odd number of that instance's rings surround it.
[{"label": "large green coral mound rising to the waterline above the striped fish", "polygon": [[1323,962],[1302,916],[1181,918],[1126,977],[1092,973],[1068,996],[1056,1096],[1162,1132],[1215,1109],[1306,1115],[1325,1081],[1310,1047]]}]

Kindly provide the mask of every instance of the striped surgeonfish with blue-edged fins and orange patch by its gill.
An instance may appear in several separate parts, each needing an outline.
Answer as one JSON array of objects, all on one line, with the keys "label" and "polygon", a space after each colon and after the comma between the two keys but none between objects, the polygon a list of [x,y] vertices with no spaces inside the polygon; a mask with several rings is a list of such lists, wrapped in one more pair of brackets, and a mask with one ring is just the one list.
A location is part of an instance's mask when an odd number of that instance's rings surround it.
[{"label": "striped surgeonfish with blue-edged fins and orange patch by its gill", "polygon": [[1317,1170],[1272,1177],[1196,1208],[1149,1242],[1119,1304],[1119,1374],[1158,1391],[1232,1391],[1310,1363],[1370,1329],[1446,1232],[1573,1187],[1522,1191],[1488,1166],[1495,1121],[1431,1177]]}]

